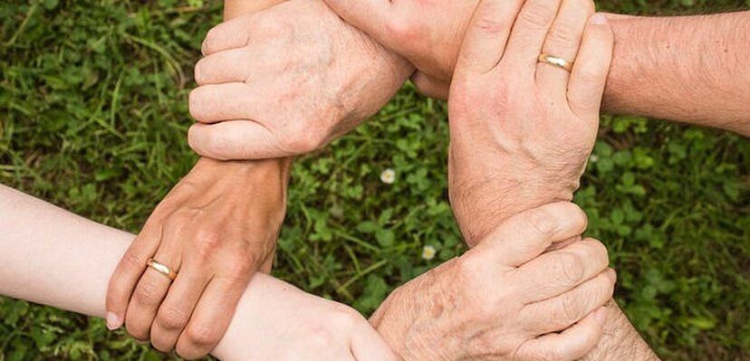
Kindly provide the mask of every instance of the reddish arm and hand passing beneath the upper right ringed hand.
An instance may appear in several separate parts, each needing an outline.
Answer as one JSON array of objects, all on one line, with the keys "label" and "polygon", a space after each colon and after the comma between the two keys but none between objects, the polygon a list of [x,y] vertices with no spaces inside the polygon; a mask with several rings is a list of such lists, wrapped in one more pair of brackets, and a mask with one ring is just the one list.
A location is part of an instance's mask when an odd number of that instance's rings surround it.
[{"label": "reddish arm and hand passing beneath the upper right ringed hand", "polygon": [[[404,55],[429,95],[447,97],[478,0],[326,0],[349,23]],[[504,3],[518,8],[520,1]],[[750,12],[646,17],[609,14],[614,55],[602,109],[750,136]],[[501,27],[508,23],[497,24]],[[572,59],[571,59],[572,60]]]}]

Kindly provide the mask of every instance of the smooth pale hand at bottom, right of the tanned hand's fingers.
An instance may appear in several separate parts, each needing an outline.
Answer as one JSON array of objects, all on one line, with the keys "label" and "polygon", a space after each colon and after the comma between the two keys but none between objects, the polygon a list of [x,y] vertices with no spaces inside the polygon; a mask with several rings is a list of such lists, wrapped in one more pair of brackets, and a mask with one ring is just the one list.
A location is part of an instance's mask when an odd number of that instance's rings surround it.
[{"label": "smooth pale hand at bottom, right of the tanned hand's fingers", "polygon": [[395,361],[357,311],[258,274],[214,355],[243,361]]}]

